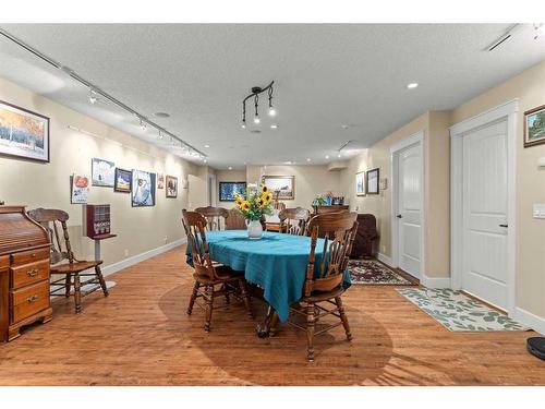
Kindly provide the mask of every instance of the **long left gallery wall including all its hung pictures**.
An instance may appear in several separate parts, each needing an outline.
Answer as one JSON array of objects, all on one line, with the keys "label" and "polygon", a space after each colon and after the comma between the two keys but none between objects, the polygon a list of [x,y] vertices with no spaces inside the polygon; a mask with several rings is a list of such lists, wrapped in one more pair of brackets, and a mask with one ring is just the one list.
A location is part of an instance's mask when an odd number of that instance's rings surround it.
[{"label": "long left gallery wall including all its hung pictures", "polygon": [[94,254],[82,207],[109,204],[105,265],[182,240],[181,187],[196,165],[3,79],[0,100],[0,202],[65,210],[82,258]]}]

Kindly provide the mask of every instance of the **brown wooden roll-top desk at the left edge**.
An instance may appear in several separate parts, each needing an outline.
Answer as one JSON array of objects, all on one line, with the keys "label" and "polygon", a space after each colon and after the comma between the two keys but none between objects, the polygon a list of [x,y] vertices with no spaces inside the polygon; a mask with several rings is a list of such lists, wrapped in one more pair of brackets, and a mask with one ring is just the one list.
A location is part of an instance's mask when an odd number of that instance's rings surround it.
[{"label": "brown wooden roll-top desk at the left edge", "polygon": [[0,206],[0,340],[51,316],[48,234],[24,206]]}]

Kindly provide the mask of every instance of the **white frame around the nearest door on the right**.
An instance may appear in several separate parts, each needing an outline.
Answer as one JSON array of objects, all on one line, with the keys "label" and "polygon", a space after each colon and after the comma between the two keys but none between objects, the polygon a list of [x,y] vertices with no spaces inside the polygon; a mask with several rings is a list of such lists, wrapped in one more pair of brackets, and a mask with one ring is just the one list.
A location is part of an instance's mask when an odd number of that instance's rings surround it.
[{"label": "white frame around the nearest door on the right", "polygon": [[476,128],[507,119],[507,308],[514,313],[517,275],[517,112],[519,100],[450,127],[450,276],[453,289],[462,287],[463,260],[463,136]]}]

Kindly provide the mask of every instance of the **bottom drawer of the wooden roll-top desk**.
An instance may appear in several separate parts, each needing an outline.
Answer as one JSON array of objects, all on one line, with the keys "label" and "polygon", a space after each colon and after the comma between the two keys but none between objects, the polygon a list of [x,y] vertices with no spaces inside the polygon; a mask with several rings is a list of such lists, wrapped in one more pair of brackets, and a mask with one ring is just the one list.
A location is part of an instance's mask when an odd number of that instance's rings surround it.
[{"label": "bottom drawer of the wooden roll-top desk", "polygon": [[41,281],[11,292],[12,323],[49,306],[49,281]]}]

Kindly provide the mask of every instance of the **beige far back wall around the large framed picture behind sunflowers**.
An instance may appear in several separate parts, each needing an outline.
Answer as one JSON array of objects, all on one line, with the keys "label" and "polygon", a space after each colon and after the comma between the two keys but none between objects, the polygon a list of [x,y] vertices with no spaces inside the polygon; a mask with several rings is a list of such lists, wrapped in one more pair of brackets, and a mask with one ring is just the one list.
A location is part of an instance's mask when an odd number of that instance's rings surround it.
[{"label": "beige far back wall around the large framed picture behind sunflowers", "polygon": [[314,197],[318,194],[331,191],[334,196],[344,195],[340,187],[340,172],[329,171],[327,166],[318,165],[282,165],[282,166],[247,166],[246,180],[255,183],[261,176],[294,176],[295,199],[283,201],[287,207],[311,208]]}]

